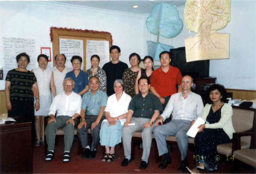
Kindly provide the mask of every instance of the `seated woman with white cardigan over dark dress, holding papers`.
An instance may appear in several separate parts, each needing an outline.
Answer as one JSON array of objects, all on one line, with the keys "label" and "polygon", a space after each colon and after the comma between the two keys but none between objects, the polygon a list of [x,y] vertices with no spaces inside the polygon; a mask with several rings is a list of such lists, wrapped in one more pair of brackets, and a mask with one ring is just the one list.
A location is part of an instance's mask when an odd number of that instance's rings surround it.
[{"label": "seated woman with white cardigan over dark dress, holding papers", "polygon": [[[232,125],[233,110],[231,105],[227,104],[225,87],[213,84],[207,94],[207,104],[201,116],[206,123],[198,127],[199,131],[195,137],[196,168],[190,170],[191,173],[200,173],[199,170],[217,170],[217,145],[230,143],[235,132]],[[193,123],[194,121],[191,125]]]}]

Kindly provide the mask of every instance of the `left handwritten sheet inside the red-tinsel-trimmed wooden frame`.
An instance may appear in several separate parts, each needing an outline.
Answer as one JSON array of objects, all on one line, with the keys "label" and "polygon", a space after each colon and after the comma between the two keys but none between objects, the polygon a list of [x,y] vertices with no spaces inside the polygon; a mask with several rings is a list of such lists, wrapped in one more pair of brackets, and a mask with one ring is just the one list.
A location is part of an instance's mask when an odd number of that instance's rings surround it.
[{"label": "left handwritten sheet inside the red-tinsel-trimmed wooden frame", "polygon": [[[60,54],[65,54],[65,56],[67,57],[67,61],[65,64],[66,67],[72,68],[72,63],[70,61],[72,56],[80,56],[82,57],[82,60],[84,62],[83,40],[60,38],[59,45],[60,45]],[[83,70],[83,63],[82,63],[81,69]]]}]

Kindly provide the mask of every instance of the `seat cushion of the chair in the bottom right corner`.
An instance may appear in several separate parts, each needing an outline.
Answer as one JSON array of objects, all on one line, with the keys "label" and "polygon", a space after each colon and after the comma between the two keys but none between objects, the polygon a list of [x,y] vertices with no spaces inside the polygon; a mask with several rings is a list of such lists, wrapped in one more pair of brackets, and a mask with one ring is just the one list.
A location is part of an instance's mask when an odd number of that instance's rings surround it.
[{"label": "seat cushion of the chair in the bottom right corner", "polygon": [[236,150],[234,158],[256,168],[256,149]]}]

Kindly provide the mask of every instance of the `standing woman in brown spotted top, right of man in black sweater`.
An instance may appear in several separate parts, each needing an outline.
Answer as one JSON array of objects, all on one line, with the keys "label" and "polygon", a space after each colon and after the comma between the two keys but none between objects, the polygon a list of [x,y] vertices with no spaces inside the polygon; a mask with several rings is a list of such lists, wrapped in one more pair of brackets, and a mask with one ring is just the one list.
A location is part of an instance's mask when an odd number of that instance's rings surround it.
[{"label": "standing woman in brown spotted top, right of man in black sweater", "polygon": [[133,97],[135,93],[135,81],[140,71],[139,63],[140,63],[140,56],[137,53],[132,53],[129,56],[129,61],[131,64],[131,68],[125,69],[123,73],[123,81],[125,84],[125,93]]}]

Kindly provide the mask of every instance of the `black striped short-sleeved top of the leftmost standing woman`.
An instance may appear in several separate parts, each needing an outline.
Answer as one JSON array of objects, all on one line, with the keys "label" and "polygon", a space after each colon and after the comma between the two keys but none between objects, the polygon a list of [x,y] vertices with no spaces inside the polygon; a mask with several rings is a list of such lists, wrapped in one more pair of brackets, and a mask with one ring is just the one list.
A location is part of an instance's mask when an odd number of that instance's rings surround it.
[{"label": "black striped short-sleeved top of the leftmost standing woman", "polygon": [[31,87],[37,82],[37,79],[33,72],[21,72],[16,71],[16,69],[12,69],[8,71],[5,80],[11,82],[11,100],[34,101],[34,95]]}]

